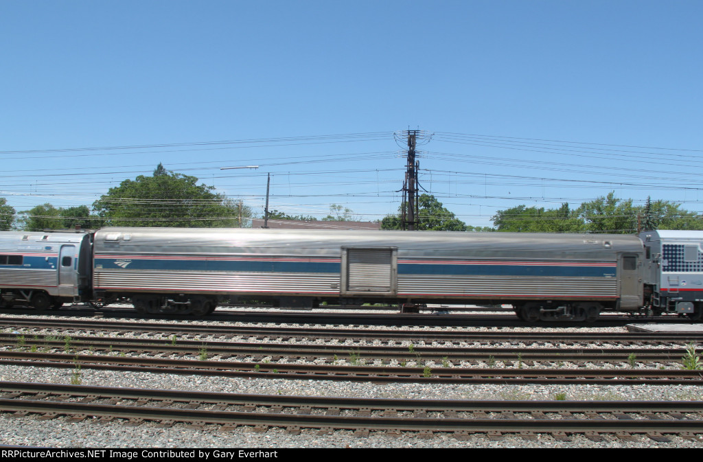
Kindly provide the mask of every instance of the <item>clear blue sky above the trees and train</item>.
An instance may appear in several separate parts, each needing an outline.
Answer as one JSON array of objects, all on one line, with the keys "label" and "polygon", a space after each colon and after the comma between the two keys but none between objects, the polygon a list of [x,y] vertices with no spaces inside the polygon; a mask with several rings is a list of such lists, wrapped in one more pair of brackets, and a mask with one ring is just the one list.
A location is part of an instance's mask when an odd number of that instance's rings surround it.
[{"label": "clear blue sky above the trees and train", "polygon": [[610,191],[703,212],[702,22],[697,0],[0,0],[0,197],[90,205],[162,162],[257,213],[271,173],[271,209],[380,219],[410,128],[467,224]]}]

